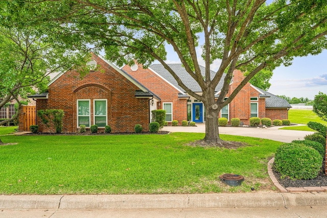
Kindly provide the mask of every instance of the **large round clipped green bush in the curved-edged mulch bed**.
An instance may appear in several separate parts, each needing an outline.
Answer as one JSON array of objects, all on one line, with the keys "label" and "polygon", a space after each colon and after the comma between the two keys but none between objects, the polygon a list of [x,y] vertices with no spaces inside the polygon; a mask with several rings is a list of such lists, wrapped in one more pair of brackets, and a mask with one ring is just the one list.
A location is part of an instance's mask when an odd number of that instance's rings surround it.
[{"label": "large round clipped green bush in the curved-edged mulch bed", "polygon": [[298,143],[282,144],[275,153],[275,170],[282,177],[314,179],[322,165],[322,157],[313,148]]}]

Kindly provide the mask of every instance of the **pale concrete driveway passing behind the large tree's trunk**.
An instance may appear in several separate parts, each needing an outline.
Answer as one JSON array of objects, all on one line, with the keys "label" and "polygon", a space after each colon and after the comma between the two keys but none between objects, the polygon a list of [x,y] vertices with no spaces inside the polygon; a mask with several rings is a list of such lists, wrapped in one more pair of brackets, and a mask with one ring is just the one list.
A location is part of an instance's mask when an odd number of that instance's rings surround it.
[{"label": "pale concrete driveway passing behind the large tree's trunk", "polygon": [[[196,127],[164,127],[164,131],[170,132],[205,132],[205,124],[196,124]],[[275,141],[291,142],[292,140],[303,140],[306,135],[314,132],[297,130],[280,130],[282,127],[252,128],[252,127],[219,127],[220,134],[240,135],[256,138],[266,138]]]}]

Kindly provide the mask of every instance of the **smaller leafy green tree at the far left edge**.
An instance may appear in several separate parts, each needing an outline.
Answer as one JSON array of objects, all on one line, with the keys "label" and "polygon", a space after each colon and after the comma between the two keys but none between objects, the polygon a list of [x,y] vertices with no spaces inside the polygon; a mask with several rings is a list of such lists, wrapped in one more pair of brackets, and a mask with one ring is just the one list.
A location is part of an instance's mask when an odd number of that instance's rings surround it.
[{"label": "smaller leafy green tree at the far left edge", "polygon": [[[0,3],[0,109],[15,100],[21,101],[35,91],[48,89],[49,75],[73,66],[85,72],[89,53],[77,53],[67,45],[56,43],[45,35],[44,27],[28,25],[28,14],[8,15],[8,7]],[[25,19],[22,19],[25,17]],[[18,117],[15,113],[0,122],[3,125]],[[1,140],[0,140],[1,143]]]}]

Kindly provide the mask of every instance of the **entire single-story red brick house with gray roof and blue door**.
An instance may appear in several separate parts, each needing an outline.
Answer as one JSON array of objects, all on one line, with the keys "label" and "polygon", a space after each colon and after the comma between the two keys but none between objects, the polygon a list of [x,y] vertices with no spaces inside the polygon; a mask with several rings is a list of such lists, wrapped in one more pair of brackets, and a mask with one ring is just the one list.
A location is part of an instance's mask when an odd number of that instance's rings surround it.
[{"label": "entire single-story red brick house with gray roof and blue door", "polygon": [[[113,133],[134,132],[135,125],[141,124],[146,132],[151,111],[155,109],[165,109],[169,123],[172,120],[178,120],[179,124],[182,120],[205,122],[203,103],[185,92],[161,64],[145,69],[136,63],[119,69],[102,56],[92,54],[88,65],[94,68],[84,78],[77,71],[68,70],[50,81],[48,92],[29,96],[36,100],[37,111],[62,109],[65,112],[63,132],[78,132],[80,125],[89,128],[94,124],[99,131],[109,125]],[[186,86],[201,94],[201,88],[181,64],[169,65]],[[201,70],[204,72],[204,67]],[[213,77],[215,72],[211,73]],[[226,98],[242,79],[242,72],[235,70]],[[216,87],[217,96],[221,87],[222,82]],[[248,125],[253,116],[287,119],[290,107],[284,99],[247,83],[220,111],[219,117],[228,120],[238,117]],[[42,124],[38,116],[36,124],[40,132],[55,132],[53,126]]]}]

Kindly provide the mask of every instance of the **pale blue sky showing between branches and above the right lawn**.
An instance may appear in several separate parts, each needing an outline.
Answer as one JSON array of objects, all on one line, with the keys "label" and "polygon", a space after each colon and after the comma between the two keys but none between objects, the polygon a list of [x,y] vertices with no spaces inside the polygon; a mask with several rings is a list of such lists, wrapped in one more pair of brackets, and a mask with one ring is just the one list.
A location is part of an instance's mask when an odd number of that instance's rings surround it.
[{"label": "pale blue sky showing between branches and above the right lawn", "polygon": [[[180,60],[172,47],[166,46],[167,63],[180,63]],[[201,50],[198,49],[198,54]],[[158,62],[156,62],[158,63]],[[204,61],[199,60],[204,66]],[[212,70],[217,70],[220,61],[215,61],[211,65]],[[268,91],[275,95],[286,95],[290,98],[314,99],[319,91],[327,94],[327,50],[319,55],[309,55],[307,57],[294,58],[292,65],[279,66],[273,70],[273,76]]]}]

